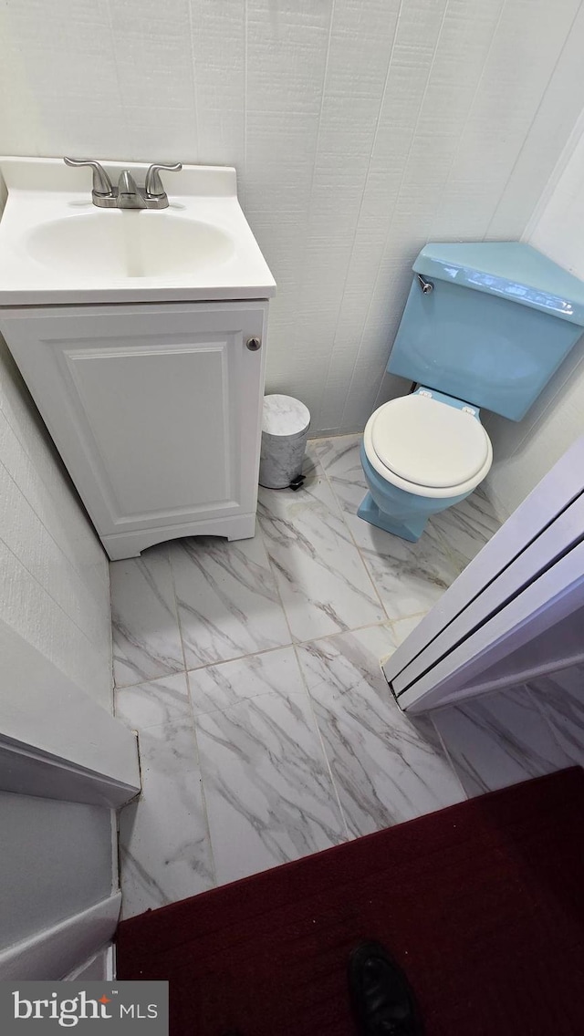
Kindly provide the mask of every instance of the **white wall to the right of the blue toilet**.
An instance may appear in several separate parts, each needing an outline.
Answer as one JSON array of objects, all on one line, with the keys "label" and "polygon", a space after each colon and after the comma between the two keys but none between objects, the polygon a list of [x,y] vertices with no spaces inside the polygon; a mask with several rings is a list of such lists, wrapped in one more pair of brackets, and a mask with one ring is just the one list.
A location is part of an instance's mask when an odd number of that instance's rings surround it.
[{"label": "white wall to the right of the blue toilet", "polygon": [[[584,279],[584,117],[547,195],[525,239]],[[491,416],[485,425],[496,457],[489,487],[504,517],[584,435],[584,338],[522,422]]]}]

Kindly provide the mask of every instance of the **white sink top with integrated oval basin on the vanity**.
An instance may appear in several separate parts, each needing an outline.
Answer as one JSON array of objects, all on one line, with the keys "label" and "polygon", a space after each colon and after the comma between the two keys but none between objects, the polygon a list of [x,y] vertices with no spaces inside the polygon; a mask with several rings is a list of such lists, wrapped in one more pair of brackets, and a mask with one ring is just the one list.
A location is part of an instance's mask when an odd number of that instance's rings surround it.
[{"label": "white sink top with integrated oval basin on the vanity", "polygon": [[[112,179],[144,166],[104,163]],[[163,211],[101,209],[87,169],[0,159],[0,306],[268,298],[275,283],[240,207],[235,170],[184,166]]]}]

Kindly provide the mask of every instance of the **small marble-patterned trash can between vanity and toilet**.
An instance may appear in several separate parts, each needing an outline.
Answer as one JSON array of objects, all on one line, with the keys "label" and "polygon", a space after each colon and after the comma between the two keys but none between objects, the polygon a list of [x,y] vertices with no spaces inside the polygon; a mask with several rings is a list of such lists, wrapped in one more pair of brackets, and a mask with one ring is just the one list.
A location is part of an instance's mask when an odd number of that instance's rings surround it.
[{"label": "small marble-patterned trash can between vanity and toilet", "polygon": [[[259,485],[298,489],[310,428],[310,410],[293,396],[265,396]],[[293,484],[297,482],[297,485]]]}]

